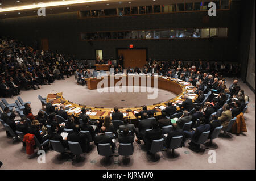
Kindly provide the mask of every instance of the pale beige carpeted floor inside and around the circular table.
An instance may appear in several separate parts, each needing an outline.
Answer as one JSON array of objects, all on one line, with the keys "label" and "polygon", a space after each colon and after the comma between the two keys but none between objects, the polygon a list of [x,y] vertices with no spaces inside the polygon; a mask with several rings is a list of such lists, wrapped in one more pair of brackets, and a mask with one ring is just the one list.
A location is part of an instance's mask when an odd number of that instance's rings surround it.
[{"label": "pale beige carpeted floor inside and around the circular table", "polygon": [[[230,83],[232,83],[232,79],[227,78],[227,86]],[[138,145],[134,142],[134,153],[130,156],[130,162],[126,164],[122,160],[123,157],[118,156],[117,153],[115,153],[117,157],[114,156],[110,161],[106,161],[105,158],[97,154],[96,147],[92,143],[92,151],[84,154],[85,159],[80,163],[59,159],[59,153],[48,150],[46,163],[39,164],[37,155],[28,156],[22,143],[13,142],[11,138],[7,138],[2,125],[0,125],[0,161],[3,162],[1,169],[255,169],[255,94],[241,80],[239,84],[245,90],[245,94],[250,97],[249,113],[245,114],[247,132],[239,136],[230,134],[230,138],[224,138],[220,135],[216,140],[213,140],[217,147],[207,148],[204,153],[195,153],[189,150],[186,142],[185,147],[175,150],[179,157],[171,158],[167,151],[162,151],[158,153],[159,158],[154,160],[146,155],[144,144]],[[22,90],[20,95],[24,101],[31,101],[32,112],[35,115],[42,108],[38,95],[46,96],[51,92],[63,91],[64,97],[73,102],[91,104],[92,106],[99,106],[98,103],[102,103],[104,107],[152,104],[175,96],[171,92],[160,90],[158,100],[148,102],[149,99],[143,99],[141,93],[132,96],[99,95],[97,92],[86,89],[86,86],[77,85],[74,77],[57,80],[52,85],[40,87],[41,89],[38,90]],[[121,98],[125,101],[121,102]],[[14,103],[15,99],[16,97],[14,99],[8,98],[7,101]],[[209,150],[216,151],[216,163],[208,163]]]}]

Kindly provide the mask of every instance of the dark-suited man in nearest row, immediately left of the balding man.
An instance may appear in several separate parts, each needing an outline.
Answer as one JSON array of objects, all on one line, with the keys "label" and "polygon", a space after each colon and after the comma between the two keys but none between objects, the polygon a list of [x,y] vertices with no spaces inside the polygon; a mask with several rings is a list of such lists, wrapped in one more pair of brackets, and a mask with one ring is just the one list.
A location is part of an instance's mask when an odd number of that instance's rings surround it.
[{"label": "dark-suited man in nearest row, immediately left of the balding man", "polygon": [[67,140],[68,141],[73,141],[73,142],[79,142],[81,148],[82,148],[82,152],[89,152],[89,144],[90,142],[87,140],[86,135],[79,133],[80,131],[80,126],[78,124],[75,125],[75,127],[73,127],[73,133],[68,134]]}]

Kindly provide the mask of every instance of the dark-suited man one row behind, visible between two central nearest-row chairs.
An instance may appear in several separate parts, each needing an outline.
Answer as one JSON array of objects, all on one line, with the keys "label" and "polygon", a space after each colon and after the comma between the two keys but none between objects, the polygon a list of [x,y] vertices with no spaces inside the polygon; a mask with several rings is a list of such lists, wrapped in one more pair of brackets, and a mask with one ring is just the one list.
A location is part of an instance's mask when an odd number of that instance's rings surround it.
[{"label": "dark-suited man one row behind, visible between two central nearest-row chairs", "polygon": [[141,121],[139,121],[139,135],[138,135],[138,141],[137,143],[140,144],[141,142],[139,140],[143,140],[145,133],[146,133],[146,129],[151,129],[152,128],[152,122],[155,120],[152,119],[148,119],[147,118],[147,113],[143,113],[142,117],[141,117]]}]

